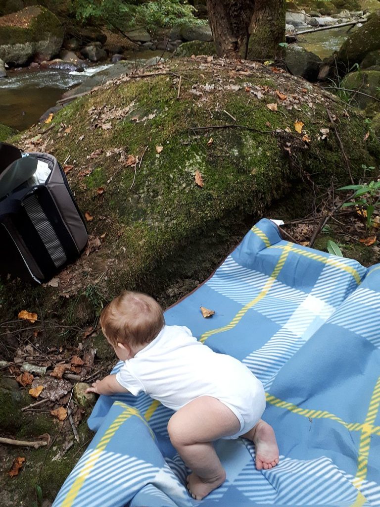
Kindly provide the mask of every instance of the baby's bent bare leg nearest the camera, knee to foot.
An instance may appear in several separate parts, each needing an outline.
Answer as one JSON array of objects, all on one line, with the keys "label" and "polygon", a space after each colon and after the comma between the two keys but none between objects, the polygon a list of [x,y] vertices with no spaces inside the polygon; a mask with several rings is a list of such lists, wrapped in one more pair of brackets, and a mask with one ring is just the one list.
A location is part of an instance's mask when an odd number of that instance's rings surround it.
[{"label": "baby's bent bare leg nearest the camera, knee to foot", "polygon": [[168,424],[171,443],[186,465],[193,470],[188,489],[202,500],[225,480],[225,472],[212,441],[237,433],[236,415],[212,396],[201,396],[176,412]]}]

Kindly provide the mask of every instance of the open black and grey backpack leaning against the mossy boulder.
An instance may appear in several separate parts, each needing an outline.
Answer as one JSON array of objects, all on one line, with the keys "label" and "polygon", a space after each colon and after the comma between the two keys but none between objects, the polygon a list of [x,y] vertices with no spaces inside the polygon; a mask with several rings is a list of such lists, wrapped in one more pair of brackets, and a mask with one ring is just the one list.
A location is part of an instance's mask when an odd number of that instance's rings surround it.
[{"label": "open black and grey backpack leaning against the mossy boulder", "polygon": [[57,159],[0,143],[0,272],[46,282],[78,259],[87,240]]}]

